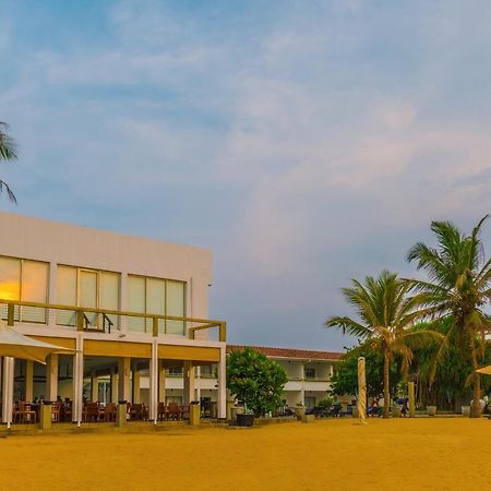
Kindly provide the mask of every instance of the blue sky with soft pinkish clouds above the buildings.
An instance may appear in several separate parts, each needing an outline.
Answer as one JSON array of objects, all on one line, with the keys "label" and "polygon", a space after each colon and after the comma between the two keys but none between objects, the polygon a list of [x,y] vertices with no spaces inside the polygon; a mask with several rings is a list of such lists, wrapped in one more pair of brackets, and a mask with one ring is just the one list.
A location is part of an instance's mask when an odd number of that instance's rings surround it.
[{"label": "blue sky with soft pinkish clouds above the buildings", "polygon": [[[340,288],[491,211],[491,4],[0,0],[0,208],[209,248],[235,344],[338,350]],[[484,229],[489,243],[491,225]]]}]

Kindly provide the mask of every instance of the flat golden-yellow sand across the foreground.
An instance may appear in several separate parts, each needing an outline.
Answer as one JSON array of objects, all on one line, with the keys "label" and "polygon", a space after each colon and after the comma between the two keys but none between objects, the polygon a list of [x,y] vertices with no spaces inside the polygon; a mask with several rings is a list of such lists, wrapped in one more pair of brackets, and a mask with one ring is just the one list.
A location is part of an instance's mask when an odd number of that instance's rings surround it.
[{"label": "flat golden-yellow sand across the foreground", "polygon": [[0,439],[1,490],[488,490],[487,419]]}]

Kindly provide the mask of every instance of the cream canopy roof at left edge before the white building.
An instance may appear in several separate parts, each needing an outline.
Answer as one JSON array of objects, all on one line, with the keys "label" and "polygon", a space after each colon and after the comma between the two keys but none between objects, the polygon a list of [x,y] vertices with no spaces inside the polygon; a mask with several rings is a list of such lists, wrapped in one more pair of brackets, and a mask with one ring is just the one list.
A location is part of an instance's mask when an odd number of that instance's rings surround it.
[{"label": "cream canopy roof at left edge before the white building", "polygon": [[46,363],[46,357],[57,352],[69,354],[72,352],[72,350],[24,336],[12,327],[7,326],[5,323],[0,320],[1,357],[13,357],[22,360],[33,360],[39,363]]}]

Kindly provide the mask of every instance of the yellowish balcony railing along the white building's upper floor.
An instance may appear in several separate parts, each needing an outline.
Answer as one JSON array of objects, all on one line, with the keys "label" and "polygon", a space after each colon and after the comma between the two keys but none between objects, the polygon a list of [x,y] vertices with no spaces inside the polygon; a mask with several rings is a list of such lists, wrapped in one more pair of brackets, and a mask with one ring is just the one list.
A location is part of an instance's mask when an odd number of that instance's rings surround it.
[{"label": "yellowish balcony railing along the white building's upper floor", "polygon": [[[76,331],[110,334],[115,326],[124,331],[120,321],[125,319],[130,332],[142,332],[153,336],[179,334],[195,339],[197,331],[217,328],[218,340],[223,343],[227,340],[227,323],[224,321],[7,299],[0,299],[0,318],[7,320],[8,325],[26,322],[60,327],[72,326],[76,327]],[[25,315],[25,312],[28,312],[28,315]]]}]

